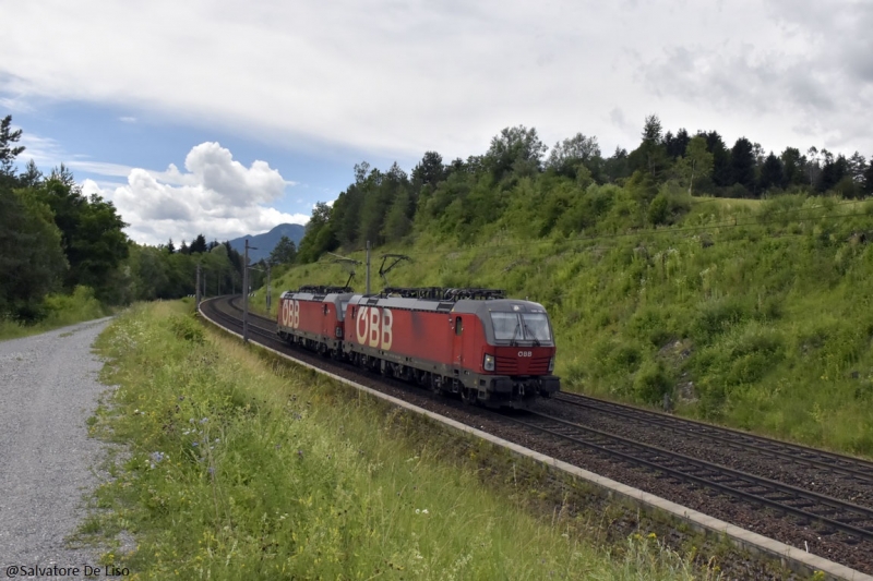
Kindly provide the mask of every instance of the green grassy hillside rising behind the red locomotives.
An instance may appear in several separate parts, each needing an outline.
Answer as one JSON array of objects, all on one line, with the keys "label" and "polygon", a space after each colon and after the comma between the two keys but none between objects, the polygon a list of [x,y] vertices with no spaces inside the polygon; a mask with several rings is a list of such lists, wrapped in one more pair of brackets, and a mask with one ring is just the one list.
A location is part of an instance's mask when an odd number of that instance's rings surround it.
[{"label": "green grassy hillside rising behind the red locomotives", "polygon": [[[633,233],[619,203],[590,238],[503,225],[462,245],[429,229],[379,249],[372,286],[379,254],[408,254],[394,286],[497,287],[543,303],[564,389],[651,404],[669,394],[681,414],[873,456],[873,203],[681,203],[674,225]],[[327,261],[297,266],[274,296],[347,276]],[[363,289],[362,266],[354,286]]]}]

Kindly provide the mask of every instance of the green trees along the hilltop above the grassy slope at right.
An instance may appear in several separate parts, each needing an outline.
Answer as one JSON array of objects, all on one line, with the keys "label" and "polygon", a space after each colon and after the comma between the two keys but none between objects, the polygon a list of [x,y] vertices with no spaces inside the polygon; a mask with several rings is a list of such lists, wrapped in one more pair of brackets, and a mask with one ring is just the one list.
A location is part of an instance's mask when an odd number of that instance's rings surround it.
[{"label": "green trees along the hilltop above the grassy slope at right", "polygon": [[825,148],[786,147],[776,155],[746,137],[728,147],[716,131],[665,133],[654,114],[641,137],[632,152],[617,147],[605,157],[595,136],[577,133],[549,149],[536,129],[518,125],[504,129],[485,154],[466,160],[446,164],[439,153],[427,152],[410,174],[396,162],[387,171],[358,164],[354,183],[333,206],[315,205],[298,261],[313,262],[340,246],[361,249],[367,241],[375,246],[400,242],[424,231],[462,242],[494,227],[517,227],[531,235],[559,227],[569,234],[589,229],[610,211],[626,216],[625,226],[668,223],[687,205],[680,193],[739,198],[781,192],[873,194],[873,162],[857,152],[847,158]]}]

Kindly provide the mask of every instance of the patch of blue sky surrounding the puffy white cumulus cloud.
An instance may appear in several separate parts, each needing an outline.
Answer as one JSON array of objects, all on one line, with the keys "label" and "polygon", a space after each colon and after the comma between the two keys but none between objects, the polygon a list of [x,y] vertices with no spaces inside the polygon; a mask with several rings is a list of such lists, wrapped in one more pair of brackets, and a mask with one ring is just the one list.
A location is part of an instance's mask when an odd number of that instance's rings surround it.
[{"label": "patch of blue sky surrounding the puffy white cumulus cloud", "polygon": [[[99,193],[109,198],[112,194],[107,191],[125,185],[132,168],[157,171],[166,170],[170,164],[183,168],[191,147],[205,142],[219,143],[246,167],[255,159],[270,160],[271,168],[283,177],[294,177],[286,179],[284,195],[272,201],[271,206],[292,216],[289,221],[296,223],[304,223],[316,202],[331,202],[348,186],[354,180],[355,164],[367,160],[386,167],[396,159],[411,168],[417,162],[414,157],[368,156],[342,144],[267,142],[242,130],[200,126],[152,111],[95,102],[47,100],[16,112],[13,121],[25,132],[22,143],[27,146],[19,159],[20,167],[34,159],[48,172],[65,164],[80,183],[93,181]],[[190,241],[196,233],[180,232],[175,240],[178,243],[187,237]],[[141,241],[156,243],[157,239],[146,235]]]}]

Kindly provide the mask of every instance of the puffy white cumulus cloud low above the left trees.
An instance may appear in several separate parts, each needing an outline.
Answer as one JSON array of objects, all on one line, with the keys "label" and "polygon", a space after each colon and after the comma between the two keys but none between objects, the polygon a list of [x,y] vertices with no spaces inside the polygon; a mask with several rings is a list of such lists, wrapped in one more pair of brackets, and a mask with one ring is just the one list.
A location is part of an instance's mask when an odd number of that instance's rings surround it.
[{"label": "puffy white cumulus cloud low above the left trees", "polygon": [[190,242],[200,233],[210,240],[227,240],[309,220],[309,216],[267,206],[285,194],[286,181],[278,171],[260,160],[246,168],[217,143],[193,147],[186,157],[186,172],[172,165],[164,172],[109,164],[89,168],[107,175],[127,169],[127,185],[111,187],[85,180],[82,191],[111,199],[131,225],[128,234],[141,243],[158,244],[170,238]]}]

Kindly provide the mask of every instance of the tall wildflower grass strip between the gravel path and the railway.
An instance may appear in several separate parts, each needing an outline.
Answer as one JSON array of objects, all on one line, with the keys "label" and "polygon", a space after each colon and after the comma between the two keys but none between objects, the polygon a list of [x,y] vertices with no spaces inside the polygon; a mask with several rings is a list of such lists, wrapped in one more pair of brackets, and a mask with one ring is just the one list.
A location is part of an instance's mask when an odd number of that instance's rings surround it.
[{"label": "tall wildflower grass strip between the gravel path and the railway", "polygon": [[118,385],[92,431],[130,456],[83,533],[132,532],[107,564],[143,579],[691,579],[637,534],[538,520],[416,438],[403,414],[205,330],[181,303],[136,306],[98,340]]}]

